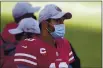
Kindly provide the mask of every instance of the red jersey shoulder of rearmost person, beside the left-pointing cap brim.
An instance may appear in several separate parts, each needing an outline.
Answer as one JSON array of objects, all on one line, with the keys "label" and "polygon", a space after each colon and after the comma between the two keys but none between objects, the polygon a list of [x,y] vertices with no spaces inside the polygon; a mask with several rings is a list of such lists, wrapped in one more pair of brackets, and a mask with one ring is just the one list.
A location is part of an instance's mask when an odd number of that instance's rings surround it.
[{"label": "red jersey shoulder of rearmost person, beside the left-pointing cap brim", "polygon": [[17,27],[17,24],[15,22],[11,22],[5,26],[1,34],[5,41],[13,42],[13,43],[15,42],[15,36],[13,34],[10,34],[8,30],[16,28],[16,27]]}]

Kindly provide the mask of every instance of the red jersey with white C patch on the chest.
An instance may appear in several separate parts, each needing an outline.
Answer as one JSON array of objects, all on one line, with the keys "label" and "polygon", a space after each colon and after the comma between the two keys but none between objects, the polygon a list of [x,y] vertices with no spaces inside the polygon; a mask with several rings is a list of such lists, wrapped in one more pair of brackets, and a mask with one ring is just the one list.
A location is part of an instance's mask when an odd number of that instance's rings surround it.
[{"label": "red jersey with white C patch on the chest", "polygon": [[17,45],[14,61],[30,68],[68,68],[74,61],[73,52],[66,39],[56,39],[57,48],[40,38],[25,39]]}]

